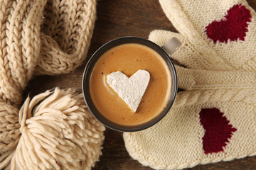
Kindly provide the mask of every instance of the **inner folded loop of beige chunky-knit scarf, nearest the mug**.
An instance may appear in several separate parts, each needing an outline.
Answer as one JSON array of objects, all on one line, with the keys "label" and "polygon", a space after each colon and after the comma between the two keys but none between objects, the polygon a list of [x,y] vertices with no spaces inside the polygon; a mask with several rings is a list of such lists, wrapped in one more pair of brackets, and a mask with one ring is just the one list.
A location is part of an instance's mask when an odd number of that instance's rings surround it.
[{"label": "inner folded loop of beige chunky-knit scarf, nearest the mug", "polygon": [[36,74],[63,74],[85,60],[96,18],[96,0],[47,1]]}]

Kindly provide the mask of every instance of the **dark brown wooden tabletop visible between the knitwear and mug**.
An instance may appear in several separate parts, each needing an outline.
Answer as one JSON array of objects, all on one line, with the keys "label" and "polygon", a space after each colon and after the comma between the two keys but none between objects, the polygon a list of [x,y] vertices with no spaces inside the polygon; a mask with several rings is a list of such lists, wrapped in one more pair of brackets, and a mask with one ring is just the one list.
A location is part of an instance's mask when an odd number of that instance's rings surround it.
[{"label": "dark brown wooden tabletop visible between the knitwear and mug", "polygon": [[[256,9],[256,0],[248,1],[252,8]],[[105,42],[122,36],[133,35],[148,38],[151,30],[164,29],[175,31],[170,21],[161,10],[157,0],[101,0],[97,1],[97,21],[87,59],[97,48]],[[55,86],[61,88],[73,87],[81,91],[82,72],[85,64],[75,72],[55,77],[34,77],[24,91],[24,96],[31,91],[43,92]],[[105,143],[100,162],[95,169],[139,169],[151,168],[142,166],[136,160],[129,157],[122,139],[122,132],[107,129],[105,131]],[[235,159],[232,162],[220,162],[216,164],[198,165],[191,170],[199,169],[256,169],[256,157]]]}]

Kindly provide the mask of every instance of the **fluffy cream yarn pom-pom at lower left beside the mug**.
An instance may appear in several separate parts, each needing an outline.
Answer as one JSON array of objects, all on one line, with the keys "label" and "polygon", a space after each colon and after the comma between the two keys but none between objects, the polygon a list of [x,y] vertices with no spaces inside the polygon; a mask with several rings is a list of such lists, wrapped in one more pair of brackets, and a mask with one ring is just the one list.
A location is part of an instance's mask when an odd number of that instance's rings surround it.
[{"label": "fluffy cream yarn pom-pom at lower left beside the mug", "polygon": [[102,154],[105,127],[72,89],[28,97],[18,122],[21,137],[11,169],[91,169]]}]

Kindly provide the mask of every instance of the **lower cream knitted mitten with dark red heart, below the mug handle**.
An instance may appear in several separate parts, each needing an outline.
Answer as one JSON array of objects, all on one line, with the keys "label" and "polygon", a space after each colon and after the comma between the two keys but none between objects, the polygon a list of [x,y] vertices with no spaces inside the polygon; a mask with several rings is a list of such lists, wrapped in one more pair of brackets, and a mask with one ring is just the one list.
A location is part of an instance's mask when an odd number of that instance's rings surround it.
[{"label": "lower cream knitted mitten with dark red heart, below the mug handle", "polygon": [[166,117],[124,133],[127,151],[154,169],[183,169],[256,154],[256,73],[176,67],[179,87]]}]

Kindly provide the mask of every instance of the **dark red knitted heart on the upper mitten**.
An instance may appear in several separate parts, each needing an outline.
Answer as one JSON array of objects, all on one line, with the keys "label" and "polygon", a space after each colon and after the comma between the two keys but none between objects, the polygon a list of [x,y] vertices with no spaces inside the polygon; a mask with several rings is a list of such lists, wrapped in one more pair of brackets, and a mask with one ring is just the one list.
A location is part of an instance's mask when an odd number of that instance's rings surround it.
[{"label": "dark red knitted heart on the upper mitten", "polygon": [[245,40],[247,26],[251,21],[250,10],[237,4],[228,10],[221,21],[213,21],[206,26],[206,34],[213,42],[228,42],[228,40]]}]

